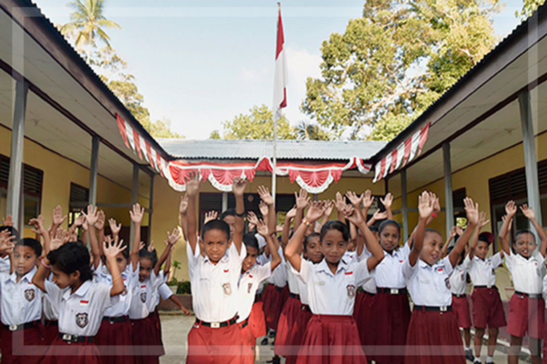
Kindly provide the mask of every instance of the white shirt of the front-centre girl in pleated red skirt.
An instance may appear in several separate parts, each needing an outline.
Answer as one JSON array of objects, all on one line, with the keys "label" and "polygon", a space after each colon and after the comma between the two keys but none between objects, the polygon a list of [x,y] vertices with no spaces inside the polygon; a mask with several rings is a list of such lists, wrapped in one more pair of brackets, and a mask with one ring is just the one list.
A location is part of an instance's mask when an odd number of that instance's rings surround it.
[{"label": "white shirt of the front-centre girl in pleated red skirt", "polygon": [[366,261],[340,260],[336,274],[327,261],[317,264],[302,260],[300,272],[292,268],[307,285],[311,312],[317,315],[352,315],[357,287],[373,278]]}]

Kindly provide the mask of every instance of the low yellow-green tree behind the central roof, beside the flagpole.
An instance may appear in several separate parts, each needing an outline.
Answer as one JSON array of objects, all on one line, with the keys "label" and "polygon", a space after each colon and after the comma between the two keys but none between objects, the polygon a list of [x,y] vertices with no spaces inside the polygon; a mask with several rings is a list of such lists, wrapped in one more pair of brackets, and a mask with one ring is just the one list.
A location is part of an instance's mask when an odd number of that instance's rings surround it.
[{"label": "low yellow-green tree behind the central roof, beside the flagpole", "polygon": [[[249,114],[236,115],[233,120],[226,120],[222,125],[224,139],[272,139],[274,137],[274,113],[265,104],[254,105],[249,109]],[[211,133],[212,136],[213,133]],[[277,120],[277,138],[294,139],[293,129],[285,115]]]}]

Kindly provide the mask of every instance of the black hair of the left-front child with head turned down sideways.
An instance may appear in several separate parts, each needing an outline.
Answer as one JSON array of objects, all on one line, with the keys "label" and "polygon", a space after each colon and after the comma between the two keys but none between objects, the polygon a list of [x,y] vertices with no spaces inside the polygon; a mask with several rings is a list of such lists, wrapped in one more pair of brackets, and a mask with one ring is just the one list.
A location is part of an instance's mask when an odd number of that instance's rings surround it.
[{"label": "black hair of the left-front child with head turned down sideways", "polygon": [[93,277],[89,266],[88,248],[78,242],[69,242],[59,249],[48,253],[48,260],[51,265],[56,266],[66,274],[80,272],[80,281],[85,282]]}]

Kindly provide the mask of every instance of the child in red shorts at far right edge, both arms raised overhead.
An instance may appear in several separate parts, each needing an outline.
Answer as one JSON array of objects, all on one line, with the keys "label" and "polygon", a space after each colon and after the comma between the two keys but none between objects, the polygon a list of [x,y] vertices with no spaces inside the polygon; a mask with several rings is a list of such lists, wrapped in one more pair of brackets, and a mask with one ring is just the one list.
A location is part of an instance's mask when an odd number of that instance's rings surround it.
[{"label": "child in red shorts at far right edge, both arms raised overhead", "polygon": [[[513,276],[515,293],[509,301],[509,318],[507,332],[511,335],[508,363],[516,364],[519,360],[522,338],[528,333],[532,363],[541,361],[541,338],[543,337],[544,300],[542,297],[542,267],[545,264],[547,234],[536,220],[536,215],[526,204],[520,207],[522,214],[530,220],[541,239],[539,251],[534,235],[529,230],[515,232],[513,249],[509,243],[509,231],[517,208],[514,201],[505,205],[505,220],[499,232],[505,263]],[[516,254],[513,253],[516,251]]]}]

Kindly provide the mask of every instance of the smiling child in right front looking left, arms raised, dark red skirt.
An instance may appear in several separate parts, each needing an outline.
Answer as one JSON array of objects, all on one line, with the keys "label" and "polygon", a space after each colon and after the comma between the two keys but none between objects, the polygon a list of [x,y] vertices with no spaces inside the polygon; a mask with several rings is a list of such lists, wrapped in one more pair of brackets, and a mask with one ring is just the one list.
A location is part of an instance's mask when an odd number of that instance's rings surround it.
[{"label": "smiling child in right front looking left, arms raised, dark red skirt", "polygon": [[426,229],[434,198],[424,191],[418,198],[420,220],[409,258],[403,264],[406,286],[414,302],[406,338],[405,364],[464,364],[462,336],[452,310],[449,277],[479,220],[479,206],[464,199],[467,229],[449,255],[439,260],[443,237]]}]

